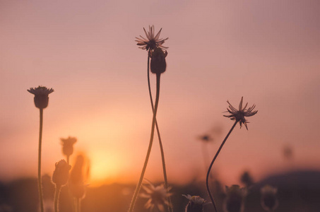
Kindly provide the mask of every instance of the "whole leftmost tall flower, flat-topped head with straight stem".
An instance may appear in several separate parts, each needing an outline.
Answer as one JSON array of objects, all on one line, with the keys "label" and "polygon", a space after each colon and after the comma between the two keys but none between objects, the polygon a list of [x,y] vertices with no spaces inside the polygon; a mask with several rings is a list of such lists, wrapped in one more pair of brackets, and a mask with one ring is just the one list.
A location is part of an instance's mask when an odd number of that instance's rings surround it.
[{"label": "whole leftmost tall flower, flat-topped head with straight stem", "polygon": [[37,182],[39,189],[40,211],[44,211],[43,194],[42,194],[42,179],[41,179],[41,148],[42,148],[42,125],[43,125],[43,110],[48,106],[49,94],[54,92],[52,88],[48,89],[45,86],[38,86],[37,88],[30,88],[29,93],[35,95],[33,98],[35,107],[40,110],[40,129],[39,129],[39,147],[38,147],[38,168],[37,168]]}]

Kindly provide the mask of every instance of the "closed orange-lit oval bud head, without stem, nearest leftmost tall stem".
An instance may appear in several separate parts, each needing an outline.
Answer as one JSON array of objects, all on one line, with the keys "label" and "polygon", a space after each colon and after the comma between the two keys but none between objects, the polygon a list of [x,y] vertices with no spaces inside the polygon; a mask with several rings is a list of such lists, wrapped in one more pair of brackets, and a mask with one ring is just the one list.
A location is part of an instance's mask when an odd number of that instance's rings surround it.
[{"label": "closed orange-lit oval bud head, without stem, nearest leftmost tall stem", "polygon": [[59,184],[60,186],[65,185],[69,179],[69,170],[71,165],[66,163],[66,160],[60,160],[56,163],[56,169],[52,175],[52,182]]}]

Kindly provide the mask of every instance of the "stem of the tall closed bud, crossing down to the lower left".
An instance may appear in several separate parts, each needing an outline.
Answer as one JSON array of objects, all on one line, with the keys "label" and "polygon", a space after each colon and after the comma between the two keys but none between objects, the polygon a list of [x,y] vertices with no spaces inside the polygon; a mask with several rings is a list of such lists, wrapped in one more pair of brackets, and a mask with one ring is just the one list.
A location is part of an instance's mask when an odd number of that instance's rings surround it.
[{"label": "stem of the tall closed bud, crossing down to the lower left", "polygon": [[157,115],[157,110],[158,110],[159,95],[160,95],[160,74],[157,74],[157,93],[155,96],[155,110],[153,110],[153,121],[151,126],[151,134],[150,134],[148,151],[147,151],[146,160],[144,162],[143,169],[140,175],[140,179],[136,187],[136,191],[134,192],[134,197],[132,198],[132,201],[130,204],[129,212],[134,211],[134,205],[136,204],[136,199],[138,198],[138,193],[140,192],[141,184],[143,181],[143,176],[144,176],[144,173],[146,172],[146,167],[148,165],[148,160],[151,153],[151,147],[153,144],[153,135],[155,134],[155,117]]}]

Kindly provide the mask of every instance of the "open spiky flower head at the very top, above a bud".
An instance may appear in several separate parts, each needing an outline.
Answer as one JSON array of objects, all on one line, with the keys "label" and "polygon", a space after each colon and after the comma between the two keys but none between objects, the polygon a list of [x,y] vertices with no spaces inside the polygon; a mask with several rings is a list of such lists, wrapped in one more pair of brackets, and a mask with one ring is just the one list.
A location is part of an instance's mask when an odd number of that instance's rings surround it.
[{"label": "open spiky flower head at the very top, above a bud", "polygon": [[146,49],[147,51],[150,49],[151,51],[153,51],[156,47],[159,47],[161,49],[167,49],[167,47],[163,47],[162,44],[165,42],[165,40],[167,40],[169,37],[165,38],[165,39],[160,39],[160,33],[162,28],[160,29],[160,31],[157,33],[157,35],[155,35],[155,27],[149,26],[149,31],[147,33],[146,29],[143,28],[144,32],[146,33],[146,37],[142,37],[140,35],[140,37],[136,37],[137,40],[135,40],[136,42],[138,42],[136,45],[141,46],[139,48],[141,49]]}]

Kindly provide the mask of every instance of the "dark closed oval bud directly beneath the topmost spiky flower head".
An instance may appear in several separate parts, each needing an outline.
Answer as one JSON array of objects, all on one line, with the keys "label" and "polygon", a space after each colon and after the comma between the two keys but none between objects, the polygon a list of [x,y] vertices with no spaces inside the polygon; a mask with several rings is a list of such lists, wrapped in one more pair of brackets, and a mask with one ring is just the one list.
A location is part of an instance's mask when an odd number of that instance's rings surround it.
[{"label": "dark closed oval bud directly beneath the topmost spiky flower head", "polygon": [[167,57],[167,51],[163,52],[160,47],[157,47],[150,53],[150,69],[152,73],[161,74],[165,72],[167,64],[165,62],[165,57]]}]

